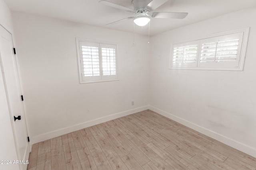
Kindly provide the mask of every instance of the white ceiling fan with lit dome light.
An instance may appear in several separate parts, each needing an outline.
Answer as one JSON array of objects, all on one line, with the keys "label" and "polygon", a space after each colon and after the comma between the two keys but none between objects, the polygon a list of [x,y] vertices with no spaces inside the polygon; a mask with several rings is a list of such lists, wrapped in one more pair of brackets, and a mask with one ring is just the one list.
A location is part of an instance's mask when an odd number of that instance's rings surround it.
[{"label": "white ceiling fan with lit dome light", "polygon": [[132,0],[132,6],[134,7],[134,9],[130,9],[122,5],[114,4],[106,0],[101,0],[99,2],[107,6],[111,6],[113,8],[117,8],[120,10],[132,12],[136,14],[136,16],[114,21],[112,23],[108,23],[107,25],[116,24],[121,21],[133,19],[134,23],[136,23],[137,25],[144,26],[148,24],[151,18],[183,19],[188,15],[188,13],[185,13],[185,12],[152,12],[167,1],[168,0]]}]

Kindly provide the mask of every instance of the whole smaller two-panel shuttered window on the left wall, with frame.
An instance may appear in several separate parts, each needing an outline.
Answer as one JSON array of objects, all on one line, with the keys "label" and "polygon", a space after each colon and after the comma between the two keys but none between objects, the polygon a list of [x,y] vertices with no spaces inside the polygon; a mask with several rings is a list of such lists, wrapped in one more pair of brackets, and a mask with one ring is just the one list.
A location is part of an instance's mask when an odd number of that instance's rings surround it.
[{"label": "whole smaller two-panel shuttered window on the left wall, with frame", "polygon": [[76,38],[80,83],[118,80],[115,43]]}]

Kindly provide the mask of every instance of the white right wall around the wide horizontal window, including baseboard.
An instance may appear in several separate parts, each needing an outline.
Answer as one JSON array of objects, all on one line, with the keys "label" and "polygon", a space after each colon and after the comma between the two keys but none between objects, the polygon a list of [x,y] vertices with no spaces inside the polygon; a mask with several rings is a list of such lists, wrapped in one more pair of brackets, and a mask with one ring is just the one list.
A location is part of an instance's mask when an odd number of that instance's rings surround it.
[{"label": "white right wall around the wide horizontal window, including baseboard", "polygon": [[[256,8],[151,39],[151,109],[256,157]],[[250,27],[244,71],[168,69],[172,41]]]}]

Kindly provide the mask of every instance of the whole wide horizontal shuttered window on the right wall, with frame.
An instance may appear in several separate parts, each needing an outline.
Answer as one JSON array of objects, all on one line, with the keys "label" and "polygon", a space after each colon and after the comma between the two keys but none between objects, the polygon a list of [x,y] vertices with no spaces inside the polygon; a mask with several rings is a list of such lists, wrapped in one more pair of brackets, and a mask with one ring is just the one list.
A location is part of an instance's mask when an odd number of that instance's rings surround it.
[{"label": "whole wide horizontal shuttered window on the right wall, with frame", "polygon": [[243,70],[249,28],[172,44],[171,69]]}]

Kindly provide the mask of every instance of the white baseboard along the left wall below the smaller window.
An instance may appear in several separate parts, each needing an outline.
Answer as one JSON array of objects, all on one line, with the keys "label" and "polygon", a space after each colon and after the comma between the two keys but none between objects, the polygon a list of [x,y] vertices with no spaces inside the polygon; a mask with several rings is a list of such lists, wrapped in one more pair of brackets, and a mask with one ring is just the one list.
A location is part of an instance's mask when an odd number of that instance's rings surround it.
[{"label": "white baseboard along the left wall below the smaller window", "polygon": [[90,126],[93,126],[93,125],[98,125],[98,124],[104,123],[106,121],[117,119],[119,117],[124,117],[124,116],[130,115],[130,114],[133,114],[133,113],[137,113],[137,112],[140,112],[140,111],[147,110],[147,109],[148,109],[148,106],[138,107],[138,108],[135,108],[135,109],[131,109],[131,110],[123,111],[123,112],[120,112],[120,113],[108,115],[108,116],[105,116],[105,117],[100,117],[98,119],[86,121],[84,123],[80,123],[78,125],[66,127],[64,129],[59,129],[57,131],[52,131],[52,132],[49,132],[49,133],[45,133],[43,135],[38,135],[38,136],[32,137],[30,139],[30,148],[32,148],[32,145],[35,144],[35,143],[46,141],[46,140],[52,139],[54,137],[58,137],[58,136],[61,136],[61,135],[67,134],[67,133],[78,131],[80,129],[84,129],[86,127],[90,127]]}]

